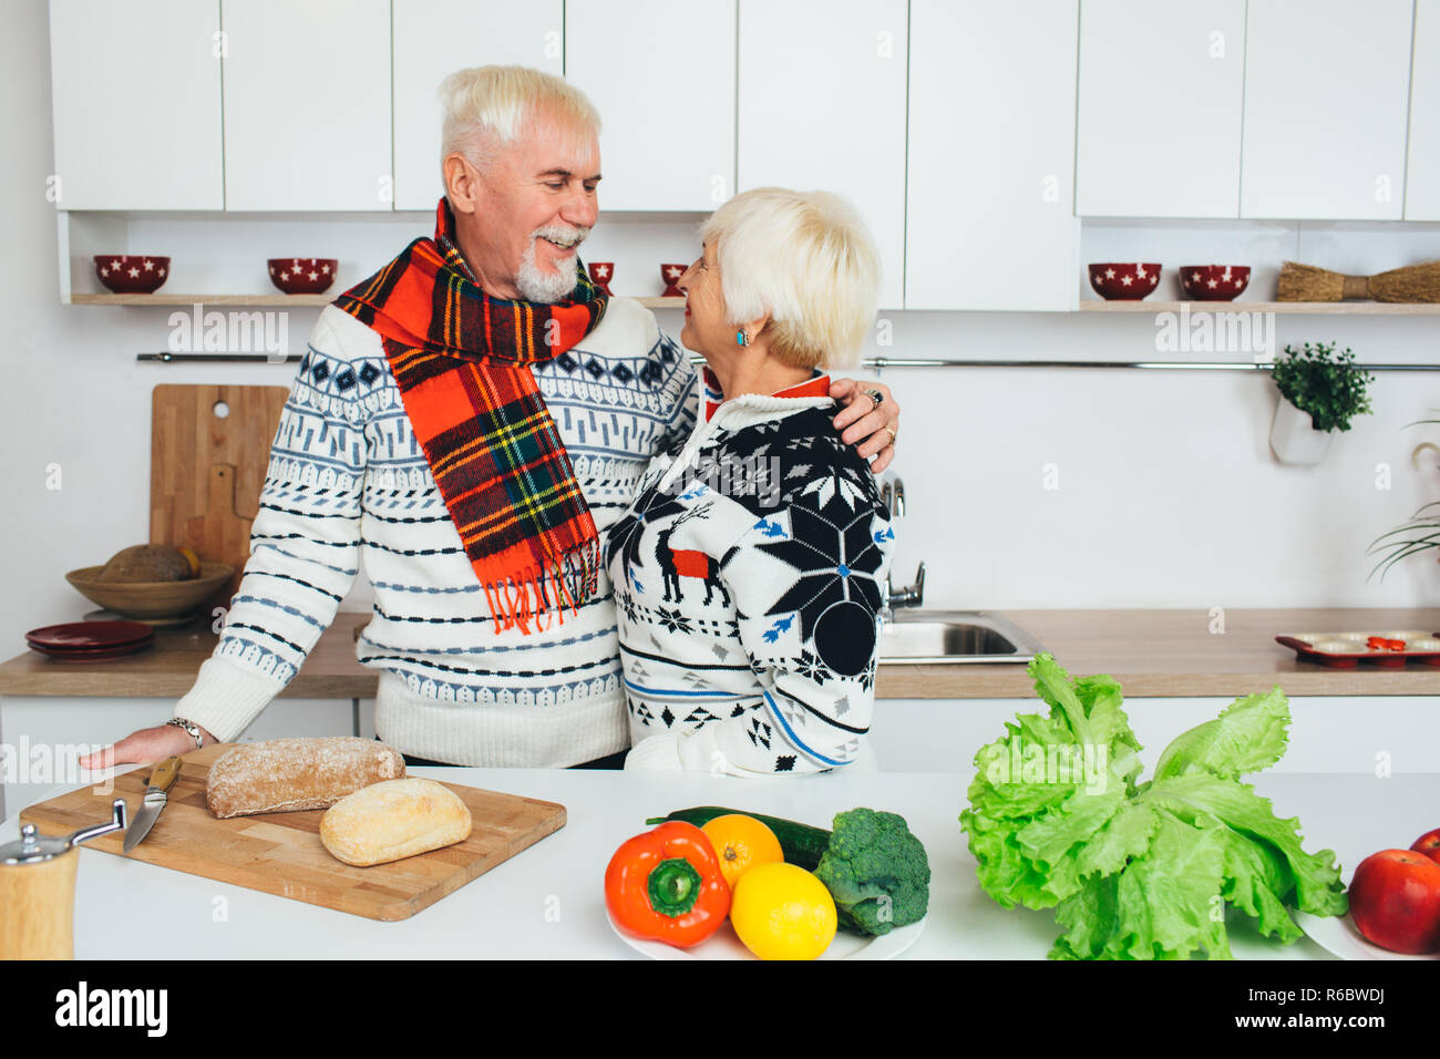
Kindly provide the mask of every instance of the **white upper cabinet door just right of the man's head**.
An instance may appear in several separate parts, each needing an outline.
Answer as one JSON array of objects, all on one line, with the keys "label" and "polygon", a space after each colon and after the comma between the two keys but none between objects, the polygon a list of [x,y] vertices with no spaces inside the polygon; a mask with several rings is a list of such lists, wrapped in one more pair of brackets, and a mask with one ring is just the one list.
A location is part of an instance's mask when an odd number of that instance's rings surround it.
[{"label": "white upper cabinet door just right of the man's head", "polygon": [[566,0],[564,76],[599,108],[600,206],[713,210],[734,190],[736,0]]}]

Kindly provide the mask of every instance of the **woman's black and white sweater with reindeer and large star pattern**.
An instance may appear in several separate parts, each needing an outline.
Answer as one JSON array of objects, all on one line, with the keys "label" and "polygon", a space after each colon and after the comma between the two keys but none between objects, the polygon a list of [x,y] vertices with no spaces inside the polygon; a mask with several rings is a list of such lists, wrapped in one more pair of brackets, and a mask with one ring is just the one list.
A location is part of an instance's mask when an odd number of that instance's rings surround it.
[{"label": "woman's black and white sweater with reindeer and large star pattern", "polygon": [[606,535],[632,742],[736,775],[850,764],[874,705],[888,514],[832,426],[828,376],[717,405],[706,375],[688,442]]}]

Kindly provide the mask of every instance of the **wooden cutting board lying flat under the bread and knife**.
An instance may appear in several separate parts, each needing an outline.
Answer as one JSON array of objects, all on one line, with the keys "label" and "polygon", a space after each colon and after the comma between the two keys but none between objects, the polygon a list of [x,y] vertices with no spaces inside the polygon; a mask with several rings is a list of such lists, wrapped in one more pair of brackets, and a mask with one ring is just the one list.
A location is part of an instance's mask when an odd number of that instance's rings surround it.
[{"label": "wooden cutting board lying flat under the bread and knife", "polygon": [[[187,875],[292,898],[367,919],[405,919],[475,879],[527,846],[564,827],[564,805],[445,784],[469,807],[474,828],[465,841],[372,867],[336,860],[320,844],[324,810],[265,813],[216,820],[204,807],[204,781],[213,762],[233,743],[217,743],[183,758],[170,804],[131,853],[132,860]],[[150,778],[150,767],[115,777],[112,794],[85,787],[20,813],[20,823],[45,834],[86,827],[109,817],[121,797],[130,818]],[[121,853],[125,833],[92,840],[85,849]]]}]

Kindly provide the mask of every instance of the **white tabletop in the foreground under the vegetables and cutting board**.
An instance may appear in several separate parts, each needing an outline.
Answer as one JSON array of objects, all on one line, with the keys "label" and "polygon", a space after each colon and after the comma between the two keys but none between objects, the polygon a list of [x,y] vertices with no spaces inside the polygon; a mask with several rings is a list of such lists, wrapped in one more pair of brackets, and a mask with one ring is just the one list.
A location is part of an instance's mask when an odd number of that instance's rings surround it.
[{"label": "white tabletop in the foreground under the vegetables and cutting board", "polygon": [[[632,958],[605,921],[602,876],[621,841],[645,818],[688,805],[729,805],[828,826],[837,811],[868,805],[900,813],[920,836],[933,872],[930,915],[906,954],[930,960],[1041,960],[1058,934],[1051,912],[1005,911],[975,882],[958,817],[968,775],[870,774],[732,779],[704,774],[563,769],[416,768],[511,794],[559,801],[564,828],[431,908],[376,922],[171,872],[98,850],[79,853],[75,954],[125,958],[154,949],[156,929],[177,958]],[[1299,816],[1305,849],[1333,849],[1348,879],[1380,849],[1405,847],[1440,824],[1440,775],[1274,774],[1257,788],[1282,817]],[[161,824],[163,826],[163,818]],[[17,821],[0,826],[0,841]],[[1290,947],[1233,919],[1237,958],[1308,960],[1328,954],[1308,938]]]}]

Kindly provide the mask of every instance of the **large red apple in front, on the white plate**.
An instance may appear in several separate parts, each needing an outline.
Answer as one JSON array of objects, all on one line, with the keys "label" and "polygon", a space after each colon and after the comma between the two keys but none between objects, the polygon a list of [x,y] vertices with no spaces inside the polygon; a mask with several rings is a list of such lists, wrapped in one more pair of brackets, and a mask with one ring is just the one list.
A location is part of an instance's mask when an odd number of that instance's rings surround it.
[{"label": "large red apple in front, on the white plate", "polygon": [[1391,952],[1440,949],[1440,863],[1413,850],[1381,850],[1359,862],[1349,885],[1355,928]]}]

